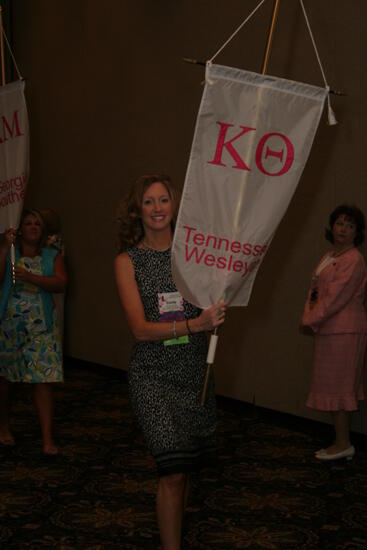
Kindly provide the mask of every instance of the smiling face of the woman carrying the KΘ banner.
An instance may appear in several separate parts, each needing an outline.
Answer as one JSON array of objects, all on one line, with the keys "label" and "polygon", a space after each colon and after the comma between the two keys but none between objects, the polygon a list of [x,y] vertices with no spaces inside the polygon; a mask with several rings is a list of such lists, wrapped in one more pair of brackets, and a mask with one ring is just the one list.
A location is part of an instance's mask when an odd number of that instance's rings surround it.
[{"label": "smiling face of the woman carrying the K\u0398 banner", "polygon": [[167,187],[161,183],[152,183],[143,194],[141,219],[144,231],[163,231],[170,228],[173,216],[173,204]]}]

